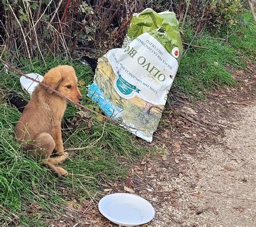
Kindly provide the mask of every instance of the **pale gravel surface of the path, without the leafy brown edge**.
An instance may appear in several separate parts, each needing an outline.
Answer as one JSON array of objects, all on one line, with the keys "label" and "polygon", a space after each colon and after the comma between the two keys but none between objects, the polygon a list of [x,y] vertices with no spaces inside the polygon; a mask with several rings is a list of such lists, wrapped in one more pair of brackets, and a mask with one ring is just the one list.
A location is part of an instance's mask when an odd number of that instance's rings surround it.
[{"label": "pale gravel surface of the path, without the leafy brown edge", "polygon": [[237,122],[226,122],[221,144],[203,144],[196,157],[180,157],[187,162],[186,174],[172,177],[170,166],[162,181],[153,181],[154,188],[171,196],[157,205],[150,225],[256,225],[256,106],[238,112]]}]

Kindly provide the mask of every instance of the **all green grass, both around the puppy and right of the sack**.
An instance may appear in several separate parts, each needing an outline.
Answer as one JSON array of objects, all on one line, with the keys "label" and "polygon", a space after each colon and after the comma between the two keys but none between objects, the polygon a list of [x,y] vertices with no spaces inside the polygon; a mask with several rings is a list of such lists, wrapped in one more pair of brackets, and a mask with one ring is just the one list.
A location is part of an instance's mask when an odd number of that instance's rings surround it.
[{"label": "all green grass, both around the puppy and right of the sack", "polygon": [[[212,34],[203,33],[193,44],[208,49],[190,48],[181,60],[179,72],[174,86],[180,93],[194,98],[204,98],[208,89],[220,86],[235,86],[237,82],[226,68],[230,65],[237,69],[245,68],[246,59],[255,59],[255,25],[249,13],[243,15],[240,23],[246,26],[235,26],[228,30],[232,34],[229,44]],[[223,37],[226,37],[226,33]],[[228,35],[229,36],[229,35]],[[184,29],[184,41],[190,42],[193,31]],[[223,38],[221,37],[221,38]],[[254,51],[250,51],[253,50]],[[79,88],[84,97],[87,84],[93,79],[90,68],[79,61],[65,59],[33,59],[33,68],[26,59],[19,59],[16,65],[25,73],[35,72],[41,75],[59,64],[75,67]],[[29,100],[19,85],[19,75],[0,72],[0,89],[2,93],[17,91]],[[1,90],[0,90],[1,91]],[[99,111],[98,107],[86,97],[83,104]],[[73,119],[78,110],[69,104],[64,119]],[[65,148],[81,148],[70,150],[71,159],[62,166],[70,176],[64,181],[53,178],[50,171],[28,157],[21,151],[14,137],[14,127],[20,113],[4,98],[0,100],[0,225],[46,226],[47,219],[54,212],[63,212],[66,202],[76,199],[78,202],[89,198],[100,187],[100,183],[108,180],[123,179],[126,169],[120,162],[130,162],[145,150],[138,146],[130,133],[117,125],[103,122],[92,117],[93,125],[80,122],[76,129],[63,130]]]}]

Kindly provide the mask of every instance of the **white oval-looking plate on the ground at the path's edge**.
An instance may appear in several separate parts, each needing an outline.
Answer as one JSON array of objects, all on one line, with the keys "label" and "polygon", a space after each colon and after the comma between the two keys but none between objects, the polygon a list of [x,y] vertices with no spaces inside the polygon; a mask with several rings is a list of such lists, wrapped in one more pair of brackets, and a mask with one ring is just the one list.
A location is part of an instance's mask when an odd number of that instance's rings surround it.
[{"label": "white oval-looking plate on the ground at the path's edge", "polygon": [[99,211],[118,225],[134,226],[150,222],[154,208],[144,198],[126,193],[115,193],[99,201]]}]

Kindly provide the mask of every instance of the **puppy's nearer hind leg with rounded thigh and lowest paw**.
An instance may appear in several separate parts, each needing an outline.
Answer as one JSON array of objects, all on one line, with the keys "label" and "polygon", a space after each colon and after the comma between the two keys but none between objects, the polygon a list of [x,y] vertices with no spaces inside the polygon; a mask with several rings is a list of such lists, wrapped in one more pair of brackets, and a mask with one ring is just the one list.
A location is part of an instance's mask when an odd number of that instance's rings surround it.
[{"label": "puppy's nearer hind leg with rounded thigh and lowest paw", "polygon": [[68,172],[66,172],[63,168],[56,167],[52,165],[51,162],[48,162],[54,148],[55,141],[53,140],[52,136],[49,133],[41,133],[35,138],[32,147],[33,151],[30,152],[30,155],[36,159],[39,157],[44,159],[44,164],[51,169],[52,173],[58,176],[59,179],[63,180],[65,179],[64,176],[68,175]]}]

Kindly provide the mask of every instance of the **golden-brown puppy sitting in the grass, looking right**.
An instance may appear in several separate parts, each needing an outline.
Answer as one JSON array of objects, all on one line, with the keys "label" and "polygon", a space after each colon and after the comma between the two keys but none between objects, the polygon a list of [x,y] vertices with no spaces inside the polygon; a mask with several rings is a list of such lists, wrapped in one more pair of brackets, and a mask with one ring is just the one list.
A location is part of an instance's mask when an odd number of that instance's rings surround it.
[{"label": "golden-brown puppy sitting in the grass, looking right", "polygon": [[[75,69],[71,66],[58,66],[50,69],[44,75],[43,83],[75,102],[82,100],[77,87]],[[32,150],[30,154],[33,157],[44,159],[45,164],[60,179],[68,175],[65,169],[55,166],[62,164],[68,157],[68,153],[64,152],[60,130],[65,109],[64,98],[38,84],[16,125],[16,136],[22,147],[25,150]],[[60,156],[50,158],[53,150]]]}]

